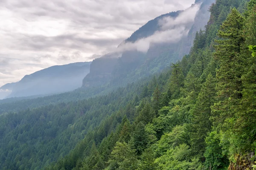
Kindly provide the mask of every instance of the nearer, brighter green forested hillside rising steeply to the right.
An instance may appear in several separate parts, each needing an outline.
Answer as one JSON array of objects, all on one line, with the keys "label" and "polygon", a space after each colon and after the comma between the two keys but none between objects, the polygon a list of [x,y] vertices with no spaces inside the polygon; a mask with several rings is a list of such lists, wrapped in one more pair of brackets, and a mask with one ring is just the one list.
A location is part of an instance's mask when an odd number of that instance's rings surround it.
[{"label": "nearer, brighter green forested hillside rising steeply to the right", "polygon": [[206,30],[166,83],[162,74],[151,79],[140,102],[127,102],[130,111],[113,113],[47,169],[255,168],[255,4],[217,0]]}]

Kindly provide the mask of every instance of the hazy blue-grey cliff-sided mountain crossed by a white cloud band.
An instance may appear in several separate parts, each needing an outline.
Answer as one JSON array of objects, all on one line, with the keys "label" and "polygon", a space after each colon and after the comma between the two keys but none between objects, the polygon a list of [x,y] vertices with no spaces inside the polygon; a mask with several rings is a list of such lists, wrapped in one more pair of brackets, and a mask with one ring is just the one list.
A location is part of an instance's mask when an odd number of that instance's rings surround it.
[{"label": "hazy blue-grey cliff-sided mountain crossed by a white cloud band", "polygon": [[[215,0],[196,0],[195,4],[200,4],[200,10],[196,14],[194,23],[187,25],[189,33],[177,42],[164,42],[150,45],[146,53],[134,50],[125,51],[122,54],[107,54],[94,59],[90,73],[84,77],[82,87],[92,87],[105,85],[122,85],[127,82],[154,74],[169,66],[172,62],[177,62],[185,54],[188,54],[192,47],[195,34],[200,29],[204,29],[210,17],[209,6]],[[195,5],[194,4],[194,5]],[[192,5],[193,6],[193,5]],[[123,44],[136,42],[143,38],[150,37],[156,31],[160,31],[159,21],[165,17],[176,18],[183,11],[163,14],[154,20],[150,20],[144,26],[135,31],[131,37],[127,38]]]}]

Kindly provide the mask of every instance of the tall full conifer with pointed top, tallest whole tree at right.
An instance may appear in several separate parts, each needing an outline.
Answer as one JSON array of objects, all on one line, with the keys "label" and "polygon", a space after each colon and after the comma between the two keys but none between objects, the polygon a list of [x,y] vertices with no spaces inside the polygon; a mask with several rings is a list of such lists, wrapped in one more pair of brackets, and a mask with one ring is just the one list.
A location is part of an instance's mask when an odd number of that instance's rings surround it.
[{"label": "tall full conifer with pointed top, tallest whole tree at right", "polygon": [[214,122],[221,128],[230,128],[232,125],[236,105],[241,99],[241,75],[243,67],[239,54],[244,43],[242,37],[244,18],[233,8],[227,20],[218,31],[220,40],[215,40],[215,59],[220,63],[216,73],[217,102],[214,106]]}]

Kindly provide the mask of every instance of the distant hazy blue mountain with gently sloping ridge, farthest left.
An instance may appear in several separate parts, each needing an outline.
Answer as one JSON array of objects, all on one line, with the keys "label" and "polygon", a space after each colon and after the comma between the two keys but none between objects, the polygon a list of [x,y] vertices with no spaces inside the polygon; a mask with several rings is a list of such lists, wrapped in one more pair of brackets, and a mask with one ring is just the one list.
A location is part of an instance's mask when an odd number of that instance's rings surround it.
[{"label": "distant hazy blue mountain with gently sloping ridge, farthest left", "polygon": [[82,79],[89,73],[91,62],[76,62],[67,65],[55,65],[24,76],[12,84],[9,97],[56,94],[72,91],[81,87]]}]

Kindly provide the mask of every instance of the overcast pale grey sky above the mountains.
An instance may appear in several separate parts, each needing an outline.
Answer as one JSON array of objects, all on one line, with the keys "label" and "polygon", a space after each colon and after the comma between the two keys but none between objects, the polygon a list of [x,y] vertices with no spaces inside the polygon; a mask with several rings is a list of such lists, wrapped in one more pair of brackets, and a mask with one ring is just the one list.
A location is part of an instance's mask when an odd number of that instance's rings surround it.
[{"label": "overcast pale grey sky above the mountains", "polygon": [[194,1],[0,0],[0,86],[115,51],[149,20]]}]

